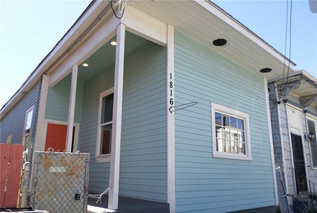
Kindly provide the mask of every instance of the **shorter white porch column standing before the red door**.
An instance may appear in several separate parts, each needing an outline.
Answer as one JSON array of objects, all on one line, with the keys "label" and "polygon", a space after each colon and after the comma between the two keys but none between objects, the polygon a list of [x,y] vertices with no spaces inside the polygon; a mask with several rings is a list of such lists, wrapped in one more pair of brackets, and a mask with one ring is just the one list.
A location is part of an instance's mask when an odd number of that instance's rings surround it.
[{"label": "shorter white porch column standing before the red door", "polygon": [[66,147],[67,147],[66,152],[72,152],[71,144],[73,140],[77,74],[78,74],[78,64],[74,64],[73,70],[71,73],[71,86],[70,86],[69,108],[68,108],[67,135],[66,135]]}]

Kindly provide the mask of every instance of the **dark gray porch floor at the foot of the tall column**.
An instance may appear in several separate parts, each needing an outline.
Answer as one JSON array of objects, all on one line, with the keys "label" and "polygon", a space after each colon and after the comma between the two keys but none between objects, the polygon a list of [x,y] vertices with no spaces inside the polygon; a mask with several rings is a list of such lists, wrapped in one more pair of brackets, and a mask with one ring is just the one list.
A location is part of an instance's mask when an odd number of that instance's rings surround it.
[{"label": "dark gray porch floor at the foot of the tall column", "polygon": [[[96,204],[97,199],[88,198],[88,205],[93,207],[104,208],[100,209],[99,213],[115,212],[115,213],[169,213],[169,204],[161,203],[155,201],[147,201],[136,198],[120,197],[118,202],[118,209],[105,210],[108,208],[108,195],[102,197],[102,203]],[[92,207],[89,207],[89,210]],[[97,209],[97,208],[96,208]],[[98,211],[97,211],[98,212]],[[97,213],[93,211],[88,211],[88,213]]]}]

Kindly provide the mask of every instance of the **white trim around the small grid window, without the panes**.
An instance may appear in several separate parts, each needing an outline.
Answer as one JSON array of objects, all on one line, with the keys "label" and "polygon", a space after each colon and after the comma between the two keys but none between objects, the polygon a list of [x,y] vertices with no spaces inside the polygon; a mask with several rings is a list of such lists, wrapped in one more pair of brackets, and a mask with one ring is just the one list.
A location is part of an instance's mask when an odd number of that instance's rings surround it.
[{"label": "white trim around the small grid window, without the panes", "polygon": [[[216,134],[215,134],[215,112],[223,112],[228,115],[235,116],[237,118],[243,119],[245,121],[245,141],[246,141],[246,155],[234,154],[234,153],[224,153],[218,152],[216,149]],[[216,103],[211,103],[211,126],[212,126],[212,157],[214,158],[225,158],[225,159],[235,159],[235,160],[252,160],[251,157],[251,140],[250,140],[250,123],[249,114],[229,108],[227,106],[218,105]]]}]

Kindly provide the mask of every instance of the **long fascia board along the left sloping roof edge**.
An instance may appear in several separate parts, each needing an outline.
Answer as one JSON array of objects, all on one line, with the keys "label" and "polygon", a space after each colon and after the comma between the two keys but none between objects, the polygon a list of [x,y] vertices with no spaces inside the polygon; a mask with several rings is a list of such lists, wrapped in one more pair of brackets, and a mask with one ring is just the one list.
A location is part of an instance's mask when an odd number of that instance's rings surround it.
[{"label": "long fascia board along the left sloping roof edge", "polygon": [[1,108],[0,119],[15,106],[20,99],[24,96],[22,92],[28,92],[41,78],[41,76],[47,71],[47,69],[54,63],[56,59],[60,57],[65,51],[67,51],[78,37],[85,31],[90,22],[93,22],[98,17],[99,10],[105,8],[100,6],[108,4],[105,1],[92,1],[66,34],[57,42],[52,51],[46,55],[46,57],[40,62],[35,70],[30,74],[22,86],[15,92],[10,100]]}]

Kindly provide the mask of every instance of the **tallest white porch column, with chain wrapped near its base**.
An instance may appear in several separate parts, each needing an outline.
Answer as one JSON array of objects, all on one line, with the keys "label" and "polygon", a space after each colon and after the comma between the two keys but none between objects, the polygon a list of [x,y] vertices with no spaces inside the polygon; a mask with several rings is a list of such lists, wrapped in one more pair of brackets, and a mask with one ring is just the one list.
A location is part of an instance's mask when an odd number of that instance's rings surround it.
[{"label": "tallest white porch column, with chain wrapped near its base", "polygon": [[118,209],[125,25],[117,26],[108,209]]}]

